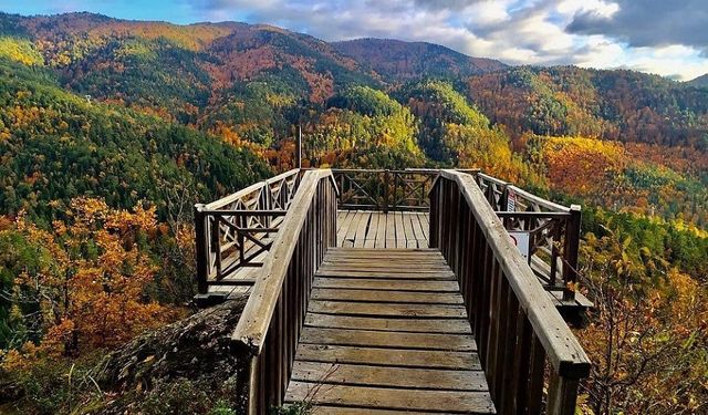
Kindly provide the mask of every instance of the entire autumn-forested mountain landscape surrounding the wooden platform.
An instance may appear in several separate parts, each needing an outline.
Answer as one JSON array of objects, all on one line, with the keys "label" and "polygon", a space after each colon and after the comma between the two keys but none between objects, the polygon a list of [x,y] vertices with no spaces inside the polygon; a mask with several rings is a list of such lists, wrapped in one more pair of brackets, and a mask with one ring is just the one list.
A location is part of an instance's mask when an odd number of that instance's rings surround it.
[{"label": "entire autumn-forested mountain landscape surrounding the wooden platform", "polygon": [[[301,126],[305,166],[480,167],[582,204],[580,289],[598,309],[579,335],[598,363],[581,402],[700,413],[699,80],[262,24],[0,13],[0,412],[12,398],[21,413],[112,400],[86,381],[96,356],[189,312],[191,205],[291,168]],[[125,396],[217,404],[170,382]]]}]

